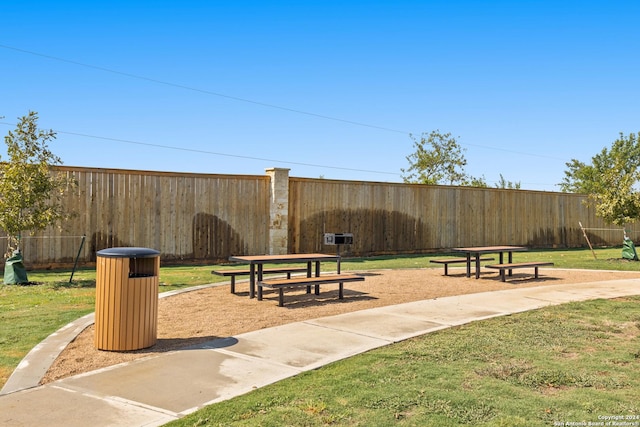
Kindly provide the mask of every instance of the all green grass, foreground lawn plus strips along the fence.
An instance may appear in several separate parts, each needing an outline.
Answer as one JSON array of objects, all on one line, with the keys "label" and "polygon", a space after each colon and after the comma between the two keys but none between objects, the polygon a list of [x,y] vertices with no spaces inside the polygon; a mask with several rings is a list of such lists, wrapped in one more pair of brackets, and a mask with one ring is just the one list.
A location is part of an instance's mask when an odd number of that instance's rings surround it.
[{"label": "all green grass, foreground lawn plus strips along the fence", "polygon": [[[514,259],[640,271],[640,262],[621,259],[621,248],[595,255],[545,250]],[[341,267],[442,268],[429,263],[442,256],[345,259]],[[211,270],[163,266],[160,292],[227,280]],[[0,386],[36,344],[94,311],[95,270],[69,278],[70,271],[29,271],[37,285],[0,285]],[[571,304],[429,334],[213,405],[178,425],[524,426],[640,414],[630,399],[640,386],[638,302]]]}]

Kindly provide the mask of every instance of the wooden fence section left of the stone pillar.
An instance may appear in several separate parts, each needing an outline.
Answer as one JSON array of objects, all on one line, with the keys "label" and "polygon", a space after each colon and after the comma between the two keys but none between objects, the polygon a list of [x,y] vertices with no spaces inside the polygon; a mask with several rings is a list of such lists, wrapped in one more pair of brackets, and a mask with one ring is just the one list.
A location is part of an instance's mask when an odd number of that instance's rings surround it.
[{"label": "wooden fence section left of the stone pillar", "polygon": [[[22,241],[25,263],[81,263],[109,247],[156,249],[169,262],[219,261],[268,248],[269,178],[58,167],[78,186],[74,217]],[[72,237],[73,236],[73,237]]]}]

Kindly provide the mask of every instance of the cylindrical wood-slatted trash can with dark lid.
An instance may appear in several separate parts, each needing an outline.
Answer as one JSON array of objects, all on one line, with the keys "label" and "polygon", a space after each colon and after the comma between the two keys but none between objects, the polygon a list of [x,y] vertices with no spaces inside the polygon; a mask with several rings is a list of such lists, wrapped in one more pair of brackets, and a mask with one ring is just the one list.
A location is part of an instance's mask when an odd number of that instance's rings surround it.
[{"label": "cylindrical wood-slatted trash can with dark lid", "polygon": [[151,347],[158,336],[160,252],[125,247],[96,255],[96,348]]}]

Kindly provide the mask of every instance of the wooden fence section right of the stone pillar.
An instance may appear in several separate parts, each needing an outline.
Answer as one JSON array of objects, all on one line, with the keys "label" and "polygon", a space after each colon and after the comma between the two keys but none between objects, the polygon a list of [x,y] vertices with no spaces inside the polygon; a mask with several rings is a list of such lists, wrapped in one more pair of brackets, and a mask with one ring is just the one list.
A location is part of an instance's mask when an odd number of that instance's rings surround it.
[{"label": "wooden fence section right of the stone pillar", "polygon": [[619,245],[622,230],[595,217],[585,196],[539,191],[290,179],[292,252],[326,250],[318,236],[349,232],[349,253],[420,253],[463,246],[540,248],[586,244],[579,222],[603,230],[599,245]]}]

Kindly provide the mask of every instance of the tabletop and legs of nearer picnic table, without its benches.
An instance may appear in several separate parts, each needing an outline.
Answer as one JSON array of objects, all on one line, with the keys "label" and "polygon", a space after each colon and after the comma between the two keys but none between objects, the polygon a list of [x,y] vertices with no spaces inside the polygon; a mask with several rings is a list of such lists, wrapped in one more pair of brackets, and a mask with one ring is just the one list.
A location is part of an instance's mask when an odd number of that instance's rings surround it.
[{"label": "tabletop and legs of nearer picnic table, without its benches", "polygon": [[[234,255],[229,257],[229,261],[248,263],[249,274],[249,298],[254,298],[256,294],[256,282],[262,281],[265,264],[283,264],[304,262],[307,264],[307,277],[312,277],[313,264],[315,264],[315,276],[320,276],[320,262],[336,261],[338,263],[338,273],[340,273],[340,256],[327,254],[284,254],[284,255]],[[257,266],[257,268],[256,268]]]}]

